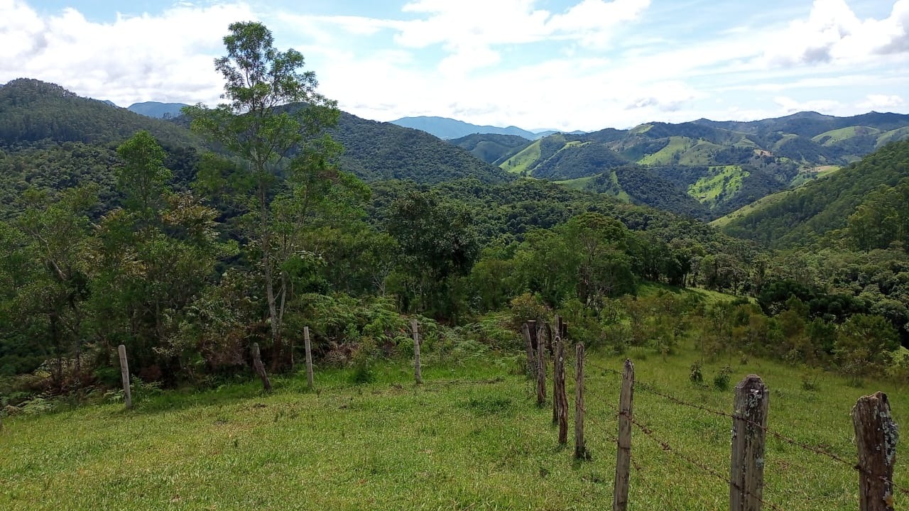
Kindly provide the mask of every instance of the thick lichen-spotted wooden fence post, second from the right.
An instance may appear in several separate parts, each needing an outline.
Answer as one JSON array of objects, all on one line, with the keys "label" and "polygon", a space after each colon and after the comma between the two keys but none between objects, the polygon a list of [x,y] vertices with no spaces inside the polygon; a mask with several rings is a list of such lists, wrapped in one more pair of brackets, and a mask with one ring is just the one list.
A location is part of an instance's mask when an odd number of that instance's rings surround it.
[{"label": "thick lichen-spotted wooden fence post, second from the right", "polygon": [[729,509],[760,511],[764,497],[764,436],[770,393],[761,376],[735,386]]}]

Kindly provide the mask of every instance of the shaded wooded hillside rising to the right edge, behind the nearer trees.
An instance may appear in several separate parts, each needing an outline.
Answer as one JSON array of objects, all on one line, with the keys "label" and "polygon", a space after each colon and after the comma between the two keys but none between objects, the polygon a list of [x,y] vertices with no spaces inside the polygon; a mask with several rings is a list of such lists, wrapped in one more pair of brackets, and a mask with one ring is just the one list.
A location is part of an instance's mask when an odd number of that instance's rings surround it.
[{"label": "shaded wooded hillside rising to the right edge, behind the nearer trees", "polygon": [[730,215],[723,231],[766,245],[806,245],[846,226],[867,195],[909,177],[909,140],[884,145],[854,165]]}]

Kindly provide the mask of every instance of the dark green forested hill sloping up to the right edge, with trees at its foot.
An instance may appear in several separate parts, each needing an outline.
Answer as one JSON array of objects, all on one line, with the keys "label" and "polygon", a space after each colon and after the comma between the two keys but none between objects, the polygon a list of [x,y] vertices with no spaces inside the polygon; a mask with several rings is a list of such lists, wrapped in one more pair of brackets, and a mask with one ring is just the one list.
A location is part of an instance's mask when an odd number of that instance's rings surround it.
[{"label": "dark green forested hill sloping up to the right edge, with trees at its foot", "polygon": [[[909,247],[909,140],[894,142],[860,162],[756,205],[724,222],[725,233],[766,245],[808,245],[838,229],[859,248]],[[891,232],[892,231],[892,232]],[[870,236],[870,237],[869,237]],[[870,239],[874,238],[874,239]]]}]

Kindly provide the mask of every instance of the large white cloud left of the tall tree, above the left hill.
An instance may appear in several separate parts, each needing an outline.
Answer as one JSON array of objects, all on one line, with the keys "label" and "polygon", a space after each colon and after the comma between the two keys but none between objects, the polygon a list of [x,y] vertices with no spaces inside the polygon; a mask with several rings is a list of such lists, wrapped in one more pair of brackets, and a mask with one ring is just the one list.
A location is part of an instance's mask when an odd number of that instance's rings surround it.
[{"label": "large white cloud left of the tall tree, above the left hill", "polygon": [[72,8],[42,16],[21,0],[0,0],[0,83],[37,78],[118,105],[215,102],[223,80],[212,61],[223,54],[227,25],[254,17],[245,4],[177,5],[95,23]]}]

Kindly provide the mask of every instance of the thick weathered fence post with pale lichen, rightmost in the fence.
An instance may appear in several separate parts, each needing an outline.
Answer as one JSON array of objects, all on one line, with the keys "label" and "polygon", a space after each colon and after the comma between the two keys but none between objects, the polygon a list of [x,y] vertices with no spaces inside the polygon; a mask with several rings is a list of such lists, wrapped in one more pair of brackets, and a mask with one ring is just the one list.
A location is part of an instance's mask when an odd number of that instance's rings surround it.
[{"label": "thick weathered fence post with pale lichen, rightmost in the fence", "polygon": [[894,510],[894,463],[899,435],[887,395],[859,397],[852,411],[858,447],[860,511]]}]

